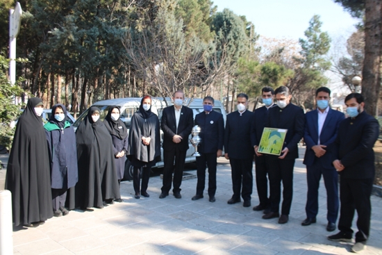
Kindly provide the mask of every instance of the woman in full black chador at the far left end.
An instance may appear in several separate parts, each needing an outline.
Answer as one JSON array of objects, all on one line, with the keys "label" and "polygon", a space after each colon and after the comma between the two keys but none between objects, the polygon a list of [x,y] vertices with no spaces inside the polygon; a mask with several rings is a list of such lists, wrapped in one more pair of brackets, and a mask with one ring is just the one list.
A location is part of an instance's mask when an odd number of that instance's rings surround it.
[{"label": "woman in full black chador at the far left end", "polygon": [[31,98],[17,122],[10,150],[6,190],[12,192],[15,226],[36,227],[53,216],[47,138],[42,126],[43,104]]}]

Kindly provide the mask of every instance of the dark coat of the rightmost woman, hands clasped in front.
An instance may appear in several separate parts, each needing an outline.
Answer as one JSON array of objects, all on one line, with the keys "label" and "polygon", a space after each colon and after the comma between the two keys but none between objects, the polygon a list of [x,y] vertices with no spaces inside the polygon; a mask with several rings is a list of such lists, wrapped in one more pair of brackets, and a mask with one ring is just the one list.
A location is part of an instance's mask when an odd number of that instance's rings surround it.
[{"label": "dark coat of the rightmost woman, hands clasped in front", "polygon": [[[144,145],[142,136],[151,138],[149,145]],[[155,165],[160,161],[160,133],[159,119],[155,113],[151,113],[145,118],[140,111],[131,117],[131,127],[128,133],[128,160],[133,164],[140,161],[137,166]]]}]

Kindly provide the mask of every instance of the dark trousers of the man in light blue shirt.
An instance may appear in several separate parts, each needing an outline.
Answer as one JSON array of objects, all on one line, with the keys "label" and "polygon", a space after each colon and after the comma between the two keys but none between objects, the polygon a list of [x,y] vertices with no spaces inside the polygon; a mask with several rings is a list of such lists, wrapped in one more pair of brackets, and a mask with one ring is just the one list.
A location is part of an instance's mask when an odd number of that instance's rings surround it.
[{"label": "dark trousers of the man in light blue shirt", "polygon": [[308,181],[308,195],[306,198],[306,217],[314,218],[318,213],[318,188],[321,176],[324,177],[326,188],[326,206],[328,222],[335,223],[338,218],[338,172],[334,167],[324,168],[320,158],[315,159],[313,165],[306,166],[306,180]]}]

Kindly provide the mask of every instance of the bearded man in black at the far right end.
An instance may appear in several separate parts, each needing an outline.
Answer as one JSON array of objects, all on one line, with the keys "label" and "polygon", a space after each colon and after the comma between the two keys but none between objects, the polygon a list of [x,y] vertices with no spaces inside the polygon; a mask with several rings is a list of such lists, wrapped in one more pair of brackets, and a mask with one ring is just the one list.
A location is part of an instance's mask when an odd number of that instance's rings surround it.
[{"label": "bearded man in black at the far right end", "polygon": [[351,252],[360,252],[365,249],[369,238],[370,196],[375,175],[373,147],[379,136],[379,123],[365,113],[361,94],[348,94],[345,104],[349,117],[340,123],[333,144],[333,165],[340,174],[340,232],[328,239],[350,242],[353,236],[351,222],[357,210],[358,232]]}]

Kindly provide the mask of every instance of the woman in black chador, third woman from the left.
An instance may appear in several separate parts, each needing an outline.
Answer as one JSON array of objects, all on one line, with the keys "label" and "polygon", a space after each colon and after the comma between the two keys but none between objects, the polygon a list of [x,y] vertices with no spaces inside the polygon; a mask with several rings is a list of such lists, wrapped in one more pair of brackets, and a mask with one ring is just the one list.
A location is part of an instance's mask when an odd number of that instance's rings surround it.
[{"label": "woman in black chador, third woman from the left", "polygon": [[99,120],[101,110],[90,107],[76,130],[78,183],[76,204],[83,211],[103,208],[120,197],[113,155],[113,142],[105,124]]}]

